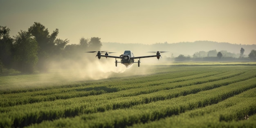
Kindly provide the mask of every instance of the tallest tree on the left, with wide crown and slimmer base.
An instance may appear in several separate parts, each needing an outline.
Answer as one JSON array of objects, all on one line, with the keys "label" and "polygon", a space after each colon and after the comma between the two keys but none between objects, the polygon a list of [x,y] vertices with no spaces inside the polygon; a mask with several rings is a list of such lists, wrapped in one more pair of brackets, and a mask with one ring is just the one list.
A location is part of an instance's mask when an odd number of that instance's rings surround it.
[{"label": "tallest tree on the left, with wide crown and slimmer base", "polygon": [[29,32],[35,37],[38,43],[38,70],[41,72],[47,71],[50,63],[49,56],[53,56],[56,50],[54,40],[58,35],[58,29],[49,34],[45,26],[39,22],[34,22],[34,25],[29,27]]}]

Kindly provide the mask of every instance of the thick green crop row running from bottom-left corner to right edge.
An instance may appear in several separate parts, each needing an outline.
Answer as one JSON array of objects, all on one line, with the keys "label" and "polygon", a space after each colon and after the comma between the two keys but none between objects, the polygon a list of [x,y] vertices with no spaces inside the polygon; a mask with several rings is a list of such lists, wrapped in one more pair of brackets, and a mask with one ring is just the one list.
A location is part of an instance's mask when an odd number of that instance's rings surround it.
[{"label": "thick green crop row running from bottom-left corner to right edge", "polygon": [[[243,88],[243,86],[238,85],[240,83],[247,83],[247,81],[248,83],[252,83],[252,81],[255,80],[256,79],[248,79],[246,81],[234,84],[237,86],[237,88]],[[226,82],[224,81],[222,84],[225,85],[225,83]],[[54,102],[48,101],[42,103],[27,104],[22,106],[13,106],[8,108],[2,108],[0,109],[0,111],[5,112],[2,113],[2,117],[8,117],[9,115],[9,118],[15,122],[14,124],[18,124],[18,126],[26,126],[31,123],[38,123],[42,120],[52,120],[58,117],[73,117],[83,113],[96,113],[120,108],[129,108],[139,104],[172,99],[174,97],[180,97],[187,94],[194,94],[203,90],[209,90],[223,85],[221,85],[220,83],[216,84],[214,82],[210,82],[208,85],[201,84],[187,86],[184,88],[176,88],[173,90],[162,90],[149,94],[141,94],[134,97],[119,97],[111,100],[98,99],[94,102],[86,102],[83,98],[76,98],[69,100],[58,100]],[[254,84],[250,85],[249,87],[254,87]],[[88,99],[90,98],[88,97]],[[47,110],[47,108],[50,109]],[[27,123],[26,121],[30,122]]]}]

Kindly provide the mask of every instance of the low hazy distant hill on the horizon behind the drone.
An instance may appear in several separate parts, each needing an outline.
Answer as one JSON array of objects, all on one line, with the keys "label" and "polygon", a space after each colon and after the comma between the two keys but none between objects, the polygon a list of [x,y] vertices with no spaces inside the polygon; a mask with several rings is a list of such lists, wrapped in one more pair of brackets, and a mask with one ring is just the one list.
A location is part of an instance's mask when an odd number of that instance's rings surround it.
[{"label": "low hazy distant hill on the horizon behind the drone", "polygon": [[256,45],[238,45],[231,43],[218,43],[213,41],[195,41],[195,42],[180,42],[180,43],[155,43],[152,45],[144,44],[124,44],[124,43],[102,43],[102,50],[109,50],[112,52],[119,52],[122,54],[124,50],[132,50],[135,56],[146,56],[145,52],[151,51],[169,51],[163,55],[171,57],[179,56],[193,56],[195,52],[210,50],[217,50],[220,52],[225,50],[230,53],[240,54],[240,49],[245,49],[244,55],[248,56],[252,49],[256,49]]}]

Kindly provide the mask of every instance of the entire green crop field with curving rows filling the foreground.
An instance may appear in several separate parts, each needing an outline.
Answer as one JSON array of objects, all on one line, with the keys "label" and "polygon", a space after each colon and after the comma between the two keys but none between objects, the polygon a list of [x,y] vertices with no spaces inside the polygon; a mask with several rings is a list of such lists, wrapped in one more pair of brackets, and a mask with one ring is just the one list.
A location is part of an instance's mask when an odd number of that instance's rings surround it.
[{"label": "entire green crop field with curving rows filling the foreground", "polygon": [[255,65],[141,65],[66,79],[0,76],[0,127],[256,127]]}]

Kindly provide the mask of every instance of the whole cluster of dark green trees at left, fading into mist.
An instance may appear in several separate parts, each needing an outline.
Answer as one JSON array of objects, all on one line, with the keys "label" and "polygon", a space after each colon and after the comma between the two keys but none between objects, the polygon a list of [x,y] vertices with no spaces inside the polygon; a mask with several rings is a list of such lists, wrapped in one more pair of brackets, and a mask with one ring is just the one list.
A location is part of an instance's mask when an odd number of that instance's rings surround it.
[{"label": "whole cluster of dark green trees at left, fading into mist", "polygon": [[57,38],[58,29],[51,34],[40,24],[34,24],[27,31],[18,32],[13,38],[10,29],[0,26],[0,73],[3,69],[15,69],[22,73],[47,72],[52,60],[79,58],[76,53],[99,50],[101,38],[81,38],[78,45],[67,45],[69,40]]}]

